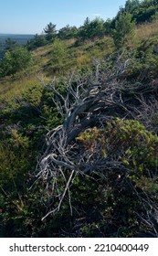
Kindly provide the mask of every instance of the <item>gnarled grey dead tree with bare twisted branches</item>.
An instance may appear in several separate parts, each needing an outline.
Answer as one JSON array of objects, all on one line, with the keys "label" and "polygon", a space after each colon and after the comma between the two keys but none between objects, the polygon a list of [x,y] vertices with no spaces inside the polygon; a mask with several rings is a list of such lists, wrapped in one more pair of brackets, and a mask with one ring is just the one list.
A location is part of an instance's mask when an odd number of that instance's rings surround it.
[{"label": "gnarled grey dead tree with bare twisted branches", "polygon": [[[86,176],[97,172],[105,176],[105,170],[127,171],[119,159],[112,156],[105,159],[100,154],[100,148],[98,152],[85,157],[84,150],[76,140],[79,133],[90,127],[104,128],[113,117],[136,118],[137,107],[134,109],[132,104],[133,101],[140,104],[139,91],[135,90],[138,84],[129,84],[125,79],[132,65],[131,59],[124,60],[119,56],[112,65],[107,63],[107,60],[96,59],[90,73],[73,72],[68,75],[63,84],[66,88],[64,93],[58,90],[58,80],[47,85],[64,122],[47,133],[47,150],[37,165],[37,178],[47,181],[47,189],[51,181],[51,194],[58,197],[58,207],[48,210],[43,219],[60,209],[66,194],[72,211],[69,189],[73,178],[79,173]],[[129,96],[131,91],[132,98]],[[58,189],[58,176],[62,176],[65,183],[62,192]]]}]

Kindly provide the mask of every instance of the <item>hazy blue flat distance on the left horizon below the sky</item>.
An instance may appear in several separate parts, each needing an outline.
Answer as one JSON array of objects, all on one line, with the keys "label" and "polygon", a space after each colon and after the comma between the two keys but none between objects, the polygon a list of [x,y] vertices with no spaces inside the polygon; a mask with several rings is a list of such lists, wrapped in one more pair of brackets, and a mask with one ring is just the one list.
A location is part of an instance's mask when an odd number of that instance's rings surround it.
[{"label": "hazy blue flat distance on the left horizon below the sky", "polygon": [[35,35],[16,35],[16,34],[0,34],[0,58],[3,55],[5,49],[5,40],[11,38],[16,41],[18,45],[25,45],[27,41],[35,37]]}]

